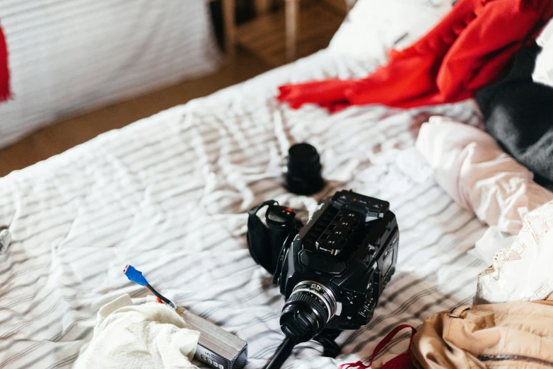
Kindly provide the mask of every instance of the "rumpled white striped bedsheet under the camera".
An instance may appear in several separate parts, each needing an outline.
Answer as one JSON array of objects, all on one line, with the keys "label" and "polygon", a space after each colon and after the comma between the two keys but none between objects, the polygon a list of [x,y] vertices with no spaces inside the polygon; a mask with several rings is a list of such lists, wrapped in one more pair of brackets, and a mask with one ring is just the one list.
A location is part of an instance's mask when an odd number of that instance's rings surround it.
[{"label": "rumpled white striped bedsheet under the camera", "polygon": [[[369,68],[319,52],[1,178],[0,226],[14,239],[0,254],[1,367],[70,368],[101,305],[123,293],[144,301],[144,288],[121,273],[129,263],[168,298],[248,341],[247,368],[262,368],[283,339],[284,301],[248,254],[245,211],[277,199],[305,218],[342,188],[390,201],[400,226],[397,271],[371,323],[339,336],[337,359],[307,342],[285,369],[367,358],[397,324],[417,326],[469,303],[483,265],[468,250],[483,225],[433,180],[411,180],[394,158],[428,115],[475,122],[472,105],[328,115],[273,98],[280,83]],[[281,186],[281,156],[299,141],[318,148],[324,163],[327,185],[315,197]],[[405,339],[388,353],[404,350]]]}]

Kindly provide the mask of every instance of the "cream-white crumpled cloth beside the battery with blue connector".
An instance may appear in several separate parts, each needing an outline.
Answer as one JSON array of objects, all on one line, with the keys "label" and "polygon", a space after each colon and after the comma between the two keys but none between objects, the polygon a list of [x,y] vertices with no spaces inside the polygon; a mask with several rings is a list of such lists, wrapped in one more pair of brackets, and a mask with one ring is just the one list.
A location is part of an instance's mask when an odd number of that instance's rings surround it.
[{"label": "cream-white crumpled cloth beside the battery with blue connector", "polygon": [[199,332],[160,303],[134,306],[129,295],[98,312],[94,336],[74,369],[196,368]]}]

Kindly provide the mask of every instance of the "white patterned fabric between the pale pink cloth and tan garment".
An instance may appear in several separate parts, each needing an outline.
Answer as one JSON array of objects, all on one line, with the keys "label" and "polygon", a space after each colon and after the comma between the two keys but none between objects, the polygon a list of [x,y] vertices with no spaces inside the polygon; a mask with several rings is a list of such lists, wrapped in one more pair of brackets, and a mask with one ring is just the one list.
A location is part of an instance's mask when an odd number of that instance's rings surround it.
[{"label": "white patterned fabric between the pale pink cloth and tan garment", "polygon": [[478,276],[475,305],[543,300],[553,292],[553,201],[532,211],[510,246]]}]

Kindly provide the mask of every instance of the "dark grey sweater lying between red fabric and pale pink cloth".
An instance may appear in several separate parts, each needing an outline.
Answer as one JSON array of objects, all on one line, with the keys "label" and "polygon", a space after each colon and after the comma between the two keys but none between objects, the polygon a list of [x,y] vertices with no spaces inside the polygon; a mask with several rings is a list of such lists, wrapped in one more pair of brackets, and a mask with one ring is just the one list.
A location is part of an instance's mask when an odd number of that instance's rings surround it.
[{"label": "dark grey sweater lying between red fabric and pale pink cloth", "polygon": [[536,182],[553,188],[553,88],[532,80],[540,47],[521,50],[498,83],[482,88],[476,100],[486,129]]}]

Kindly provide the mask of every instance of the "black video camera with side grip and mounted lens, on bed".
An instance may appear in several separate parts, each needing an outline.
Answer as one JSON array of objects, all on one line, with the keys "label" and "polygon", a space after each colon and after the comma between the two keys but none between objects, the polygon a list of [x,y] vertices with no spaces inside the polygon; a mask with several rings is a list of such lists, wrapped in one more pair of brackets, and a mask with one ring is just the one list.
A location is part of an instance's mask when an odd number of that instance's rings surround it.
[{"label": "black video camera with side grip and mounted lens, on bed", "polygon": [[[269,206],[267,227],[256,215],[263,206]],[[283,209],[286,216],[280,216]],[[274,275],[286,299],[280,317],[286,340],[267,368],[279,368],[295,344],[310,339],[323,344],[325,356],[336,356],[334,338],[342,329],[368,324],[395,272],[400,232],[390,204],[339,191],[319,204],[303,228],[295,212],[276,201],[249,215],[250,253]]]}]

